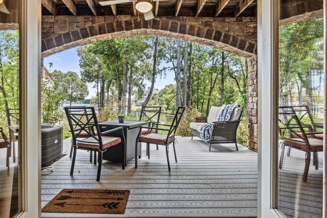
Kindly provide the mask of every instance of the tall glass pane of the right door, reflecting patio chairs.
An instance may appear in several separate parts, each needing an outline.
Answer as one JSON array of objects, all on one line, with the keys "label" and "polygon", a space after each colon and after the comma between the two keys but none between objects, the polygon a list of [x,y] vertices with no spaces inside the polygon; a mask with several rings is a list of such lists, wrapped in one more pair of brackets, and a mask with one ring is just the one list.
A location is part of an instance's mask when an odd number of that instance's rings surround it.
[{"label": "tall glass pane of the right door, reflecting patio chairs", "polygon": [[305,16],[310,7],[299,2],[299,13],[294,4],[279,3],[277,207],[287,217],[322,217],[323,14]]}]

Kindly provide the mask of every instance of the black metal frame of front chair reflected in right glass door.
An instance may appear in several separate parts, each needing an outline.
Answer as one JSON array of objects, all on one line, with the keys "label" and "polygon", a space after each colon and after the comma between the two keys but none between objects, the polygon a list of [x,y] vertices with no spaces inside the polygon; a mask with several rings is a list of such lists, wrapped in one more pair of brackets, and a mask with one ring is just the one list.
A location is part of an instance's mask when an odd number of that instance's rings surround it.
[{"label": "black metal frame of front chair reflected in right glass door", "polygon": [[[308,178],[310,159],[311,159],[310,142],[309,142],[309,139],[307,136],[308,135],[314,136],[315,134],[321,134],[321,133],[314,132],[311,125],[303,124],[300,121],[299,117],[297,116],[296,110],[294,110],[293,106],[279,107],[279,115],[284,116],[283,120],[279,118],[279,135],[281,135],[282,139],[284,140],[282,142],[282,148],[281,148],[282,152],[281,152],[281,157],[279,159],[279,168],[282,169],[282,167],[283,167],[285,147],[286,146],[288,146],[289,148],[291,147],[290,145],[288,145],[286,143],[285,140],[286,139],[292,140],[292,135],[296,135],[296,138],[302,139],[303,142],[306,144],[305,149],[292,147],[294,149],[306,152],[306,165],[305,165],[305,170],[303,173],[303,181],[306,182],[307,178]],[[303,116],[300,118],[303,118]],[[293,123],[293,120],[295,121],[295,124]],[[304,129],[308,129],[308,132],[306,132]],[[316,169],[318,169],[318,153],[313,152],[313,154],[314,154],[313,162],[314,162],[314,165],[316,166]]]}]

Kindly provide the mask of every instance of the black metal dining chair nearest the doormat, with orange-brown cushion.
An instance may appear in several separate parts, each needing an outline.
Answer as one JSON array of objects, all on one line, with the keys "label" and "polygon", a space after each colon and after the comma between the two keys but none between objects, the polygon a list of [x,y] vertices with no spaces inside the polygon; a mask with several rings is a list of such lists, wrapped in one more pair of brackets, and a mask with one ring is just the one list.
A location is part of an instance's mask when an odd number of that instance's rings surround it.
[{"label": "black metal dining chair nearest the doormat, with orange-brown cushion", "polygon": [[[98,165],[97,181],[100,181],[103,153],[106,152],[107,148],[109,147],[124,146],[123,149],[124,161],[122,163],[123,165],[122,168],[125,169],[126,143],[125,143],[123,127],[118,127],[111,130],[107,130],[105,132],[101,132],[94,107],[85,107],[84,110],[81,110],[80,107],[64,107],[64,109],[68,119],[69,128],[71,129],[72,132],[73,144],[74,144],[71,176],[74,173],[77,149],[92,151],[95,153],[98,152],[99,165]],[[98,133],[97,135],[96,135],[96,131]],[[122,131],[123,138],[107,136],[109,133],[115,131]],[[90,137],[80,139],[78,135],[81,134],[82,132],[87,133]],[[97,164],[96,160],[94,162],[95,164]]]}]

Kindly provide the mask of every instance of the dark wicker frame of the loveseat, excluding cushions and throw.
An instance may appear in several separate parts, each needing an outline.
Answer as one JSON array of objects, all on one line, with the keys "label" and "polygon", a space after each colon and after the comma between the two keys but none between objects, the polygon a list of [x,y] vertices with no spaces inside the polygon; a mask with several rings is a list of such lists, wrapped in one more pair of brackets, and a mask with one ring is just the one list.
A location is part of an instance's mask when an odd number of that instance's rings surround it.
[{"label": "dark wicker frame of the loveseat, excluding cushions and throw", "polygon": [[[243,107],[240,113],[240,117],[243,113]],[[237,129],[240,125],[241,119],[233,120],[233,121],[216,121],[213,122],[215,127],[213,129],[212,135],[210,136],[209,144],[209,151],[211,151],[211,144],[223,144],[223,143],[235,143],[236,151],[239,150],[237,146],[237,139],[236,133]],[[207,117],[196,117],[195,123],[207,123]],[[191,135],[193,140],[193,135],[200,137],[200,133],[196,130],[191,129]],[[218,138],[218,139],[215,139]]]}]

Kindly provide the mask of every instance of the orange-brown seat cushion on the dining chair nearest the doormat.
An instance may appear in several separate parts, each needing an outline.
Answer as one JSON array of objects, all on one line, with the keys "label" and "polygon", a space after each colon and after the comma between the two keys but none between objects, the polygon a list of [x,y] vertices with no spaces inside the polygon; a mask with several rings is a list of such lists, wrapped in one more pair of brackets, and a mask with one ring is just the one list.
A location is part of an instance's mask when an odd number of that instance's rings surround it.
[{"label": "orange-brown seat cushion on the dining chair nearest the doormat", "polygon": [[[111,136],[102,136],[102,149],[109,148],[111,146],[115,146],[122,142],[122,139],[119,137],[111,137]],[[98,149],[99,142],[94,137],[85,138],[82,141],[77,142],[77,147],[84,149]]]}]

